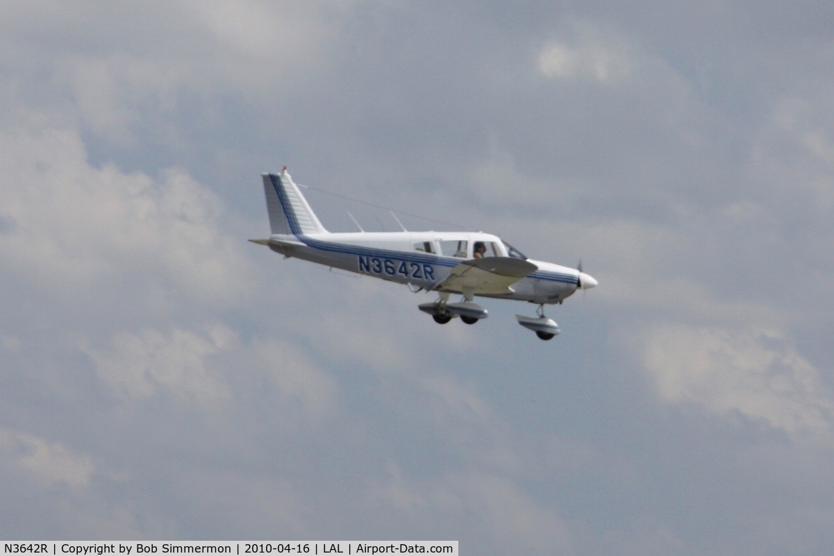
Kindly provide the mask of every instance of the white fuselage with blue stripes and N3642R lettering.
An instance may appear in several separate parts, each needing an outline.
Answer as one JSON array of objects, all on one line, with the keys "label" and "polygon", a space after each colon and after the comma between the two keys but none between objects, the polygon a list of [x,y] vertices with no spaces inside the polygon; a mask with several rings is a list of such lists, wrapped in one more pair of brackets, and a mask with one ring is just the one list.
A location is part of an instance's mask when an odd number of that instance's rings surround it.
[{"label": "white fuselage with blue stripes and N3642R lettering", "polygon": [[[483,245],[486,253],[474,253]],[[461,262],[481,257],[513,256],[500,238],[480,232],[358,232],[273,234],[269,248],[354,273],[406,283],[440,292],[461,293],[438,287]],[[527,259],[538,267],[513,283],[508,293],[475,293],[490,298],[533,303],[560,303],[580,287],[582,275],[574,268]],[[591,280],[593,278],[590,278]],[[594,282],[595,284],[595,282]]]}]

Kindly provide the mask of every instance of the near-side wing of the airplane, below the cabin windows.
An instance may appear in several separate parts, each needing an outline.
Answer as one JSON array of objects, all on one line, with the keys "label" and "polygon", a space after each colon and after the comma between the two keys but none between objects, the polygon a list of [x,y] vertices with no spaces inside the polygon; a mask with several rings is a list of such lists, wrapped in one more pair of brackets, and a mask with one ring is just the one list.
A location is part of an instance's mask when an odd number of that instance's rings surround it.
[{"label": "near-side wing of the airplane, below the cabin windows", "polygon": [[520,258],[485,257],[470,258],[452,268],[449,276],[435,285],[435,290],[463,293],[513,293],[510,286],[539,267]]}]

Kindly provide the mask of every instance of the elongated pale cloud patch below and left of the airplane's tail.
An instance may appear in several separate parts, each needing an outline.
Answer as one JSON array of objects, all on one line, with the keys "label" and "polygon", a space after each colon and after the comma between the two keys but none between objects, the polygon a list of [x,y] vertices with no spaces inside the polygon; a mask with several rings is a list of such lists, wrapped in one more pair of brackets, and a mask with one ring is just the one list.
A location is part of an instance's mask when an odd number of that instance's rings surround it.
[{"label": "elongated pale cloud patch below and left of the airplane's tail", "polygon": [[93,358],[98,377],[123,399],[169,396],[178,404],[217,409],[234,396],[227,376],[234,372],[265,379],[275,397],[298,400],[307,416],[336,410],[336,381],[298,348],[278,340],[241,343],[221,323],[197,331],[123,331],[113,334],[107,349],[82,349]]}]

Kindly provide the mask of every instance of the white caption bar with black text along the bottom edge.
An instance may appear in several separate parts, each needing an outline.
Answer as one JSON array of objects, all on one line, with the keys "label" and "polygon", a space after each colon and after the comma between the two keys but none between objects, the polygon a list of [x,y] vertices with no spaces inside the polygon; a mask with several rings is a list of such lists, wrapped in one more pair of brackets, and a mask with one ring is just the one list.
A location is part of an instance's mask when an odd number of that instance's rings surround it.
[{"label": "white caption bar with black text along the bottom edge", "polygon": [[107,542],[15,542],[3,543],[4,554],[53,554],[70,556],[148,556],[153,554],[449,554],[458,556],[458,541],[272,541],[269,543],[148,541]]}]

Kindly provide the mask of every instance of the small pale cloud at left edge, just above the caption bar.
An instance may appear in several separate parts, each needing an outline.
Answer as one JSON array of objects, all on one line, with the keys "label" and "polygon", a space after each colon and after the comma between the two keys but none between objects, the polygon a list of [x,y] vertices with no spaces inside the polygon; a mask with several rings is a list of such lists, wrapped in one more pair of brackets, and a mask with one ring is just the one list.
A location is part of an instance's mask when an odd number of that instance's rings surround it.
[{"label": "small pale cloud at left edge, just above the caption bar", "polygon": [[0,429],[0,456],[48,486],[86,486],[95,471],[93,460],[84,453],[11,430]]}]

